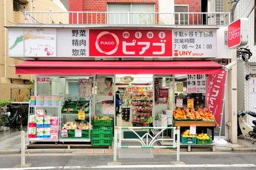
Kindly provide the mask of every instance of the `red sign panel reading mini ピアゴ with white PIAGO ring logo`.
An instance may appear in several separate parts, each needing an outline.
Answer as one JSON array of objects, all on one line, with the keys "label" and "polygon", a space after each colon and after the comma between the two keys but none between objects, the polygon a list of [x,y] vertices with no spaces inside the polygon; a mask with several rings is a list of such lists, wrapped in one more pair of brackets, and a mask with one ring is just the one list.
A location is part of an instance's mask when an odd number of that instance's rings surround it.
[{"label": "red sign panel reading mini \u30d4\u30a2\u30b4 with white PIAGO ring logo", "polygon": [[171,29],[90,29],[90,57],[171,57]]}]

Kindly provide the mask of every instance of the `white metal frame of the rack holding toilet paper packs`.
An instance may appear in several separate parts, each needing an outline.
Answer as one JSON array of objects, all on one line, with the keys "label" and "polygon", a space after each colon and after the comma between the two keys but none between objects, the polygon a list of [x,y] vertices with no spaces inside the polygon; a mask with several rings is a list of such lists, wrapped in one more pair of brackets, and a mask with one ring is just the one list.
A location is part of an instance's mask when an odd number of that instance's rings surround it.
[{"label": "white metal frame of the rack holding toilet paper packs", "polygon": [[[51,139],[51,138],[44,138],[44,137],[29,137],[30,128],[31,128],[31,116],[36,115],[36,109],[45,109],[46,111],[49,109],[54,109],[54,113],[52,111],[46,112],[46,116],[52,116],[55,115],[57,117],[57,120],[60,120],[60,109],[61,109],[61,100],[59,100],[58,105],[32,105],[29,103],[28,105],[28,126],[27,126],[27,133],[28,133],[28,142],[31,144],[32,142],[59,142],[59,122],[57,123],[57,138]],[[53,114],[52,114],[53,113]],[[35,118],[36,119],[36,118]],[[36,124],[36,123],[35,123]],[[41,126],[41,128],[44,128],[44,126]]]}]

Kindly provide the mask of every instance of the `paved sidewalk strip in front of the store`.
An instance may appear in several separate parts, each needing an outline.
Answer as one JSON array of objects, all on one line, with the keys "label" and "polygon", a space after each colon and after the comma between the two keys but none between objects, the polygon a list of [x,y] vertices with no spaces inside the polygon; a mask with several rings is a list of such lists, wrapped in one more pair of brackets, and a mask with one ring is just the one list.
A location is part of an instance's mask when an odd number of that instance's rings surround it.
[{"label": "paved sidewalk strip in front of the store", "polygon": [[[23,130],[26,130],[24,128]],[[256,142],[246,140],[243,137],[238,137],[238,143],[232,144],[228,142],[227,147],[216,147],[215,151],[256,151]],[[28,141],[26,140],[26,145]],[[81,144],[80,144],[81,145]],[[30,154],[36,153],[72,153],[72,154],[113,154],[113,148],[54,148],[55,145],[51,145],[52,148],[35,148],[27,149],[26,152]],[[61,146],[61,145],[58,145]],[[151,149],[152,154],[171,154],[176,150],[171,149]],[[181,148],[181,152],[187,152],[187,148]],[[204,152],[210,151],[209,148],[191,148],[191,151]],[[17,154],[20,152],[20,131],[9,130],[6,133],[0,134],[0,154]]]}]

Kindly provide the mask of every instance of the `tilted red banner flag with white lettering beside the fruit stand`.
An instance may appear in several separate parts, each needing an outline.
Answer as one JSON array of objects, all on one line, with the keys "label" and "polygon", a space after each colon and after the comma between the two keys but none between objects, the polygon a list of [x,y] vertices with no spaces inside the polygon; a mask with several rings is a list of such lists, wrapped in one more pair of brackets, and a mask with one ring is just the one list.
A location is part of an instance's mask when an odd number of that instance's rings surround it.
[{"label": "tilted red banner flag with white lettering beside the fruit stand", "polygon": [[207,107],[214,115],[218,127],[221,124],[225,80],[226,71],[222,71],[221,74],[210,74],[207,79]]}]

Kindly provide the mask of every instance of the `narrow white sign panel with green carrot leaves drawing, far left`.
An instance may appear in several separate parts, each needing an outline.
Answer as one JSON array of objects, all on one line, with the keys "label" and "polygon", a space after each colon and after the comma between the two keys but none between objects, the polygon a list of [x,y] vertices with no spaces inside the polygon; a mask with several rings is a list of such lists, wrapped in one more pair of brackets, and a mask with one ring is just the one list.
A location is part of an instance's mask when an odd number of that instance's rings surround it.
[{"label": "narrow white sign panel with green carrot leaves drawing, far left", "polygon": [[9,28],[9,56],[24,56],[24,36],[23,29]]}]

